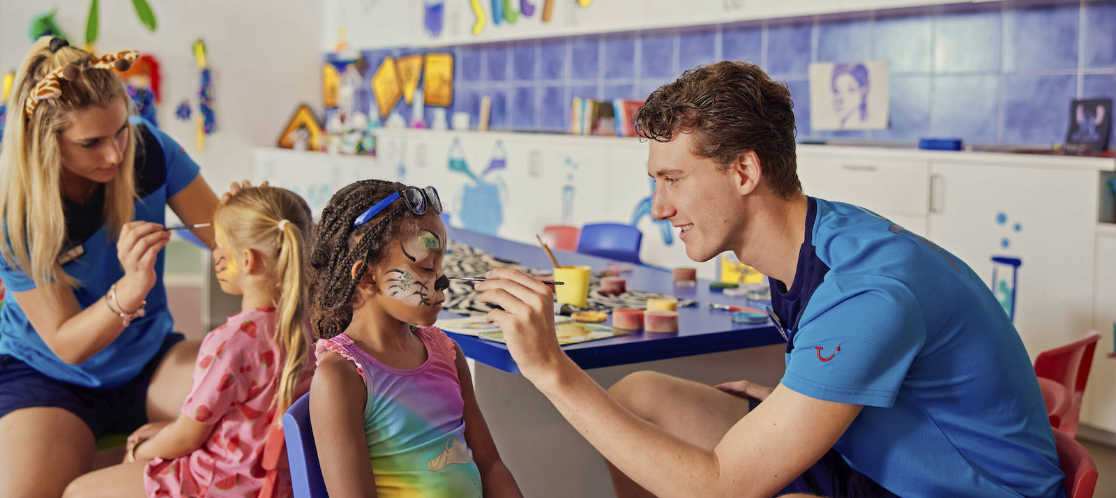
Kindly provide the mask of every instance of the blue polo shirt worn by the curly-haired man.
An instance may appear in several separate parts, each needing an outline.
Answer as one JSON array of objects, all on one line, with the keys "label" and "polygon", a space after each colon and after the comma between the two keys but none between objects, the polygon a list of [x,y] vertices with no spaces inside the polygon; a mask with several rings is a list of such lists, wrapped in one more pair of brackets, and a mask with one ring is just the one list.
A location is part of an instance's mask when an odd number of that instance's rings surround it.
[{"label": "blue polo shirt worn by the curly-haired man", "polygon": [[980,277],[865,209],[809,204],[793,285],[771,297],[782,385],[864,405],[834,448],[898,496],[1062,497],[1035,370]]}]

